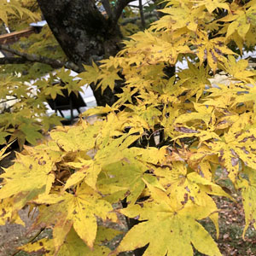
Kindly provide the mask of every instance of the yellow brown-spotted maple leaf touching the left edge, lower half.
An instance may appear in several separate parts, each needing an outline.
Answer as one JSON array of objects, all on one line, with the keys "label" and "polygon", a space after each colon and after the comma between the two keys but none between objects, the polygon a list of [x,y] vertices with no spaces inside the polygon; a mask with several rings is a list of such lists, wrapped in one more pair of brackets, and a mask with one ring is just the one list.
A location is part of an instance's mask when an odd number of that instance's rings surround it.
[{"label": "yellow brown-spotted maple leaf touching the left edge, lower half", "polygon": [[48,194],[55,175],[52,172],[54,163],[48,154],[23,155],[17,154],[17,160],[3,173],[3,188],[0,199],[15,195],[15,204],[24,207],[27,201],[39,194]]}]

